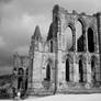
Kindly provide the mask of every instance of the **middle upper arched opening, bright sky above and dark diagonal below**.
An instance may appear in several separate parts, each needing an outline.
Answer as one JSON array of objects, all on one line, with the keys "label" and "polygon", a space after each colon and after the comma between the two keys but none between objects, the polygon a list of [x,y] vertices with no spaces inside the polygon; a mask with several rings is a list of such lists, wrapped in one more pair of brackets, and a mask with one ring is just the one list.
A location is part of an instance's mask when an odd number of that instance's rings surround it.
[{"label": "middle upper arched opening, bright sky above and dark diagonal below", "polygon": [[85,43],[83,43],[83,33],[82,33],[81,21],[77,21],[77,23],[76,23],[76,37],[77,37],[77,50],[83,52],[85,50]]}]

